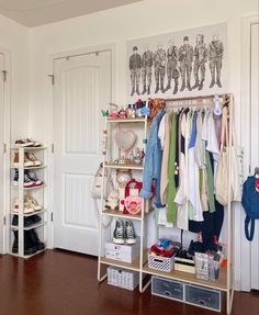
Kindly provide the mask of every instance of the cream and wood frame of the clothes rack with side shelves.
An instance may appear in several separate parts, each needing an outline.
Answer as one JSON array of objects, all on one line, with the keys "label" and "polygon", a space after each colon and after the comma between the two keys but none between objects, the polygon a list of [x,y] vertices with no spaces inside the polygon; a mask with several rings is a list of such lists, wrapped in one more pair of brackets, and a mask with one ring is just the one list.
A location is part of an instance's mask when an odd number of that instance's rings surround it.
[{"label": "cream and wood frame of the clothes rack with side shelves", "polygon": [[[207,108],[209,105],[213,105],[214,104],[214,97],[213,94],[211,95],[199,95],[199,97],[191,97],[191,98],[176,98],[176,99],[167,99],[167,100],[162,100],[162,102],[165,102],[165,109],[177,109],[177,108],[190,108],[190,106],[196,106],[196,108]],[[217,95],[221,100],[222,104],[225,104],[228,106],[228,122],[229,122],[229,144],[230,142],[230,137],[233,135],[233,110],[234,110],[234,98],[233,94],[230,93],[226,93],[226,94],[218,94]],[[114,124],[114,123],[125,123],[127,120],[119,120],[115,122],[115,120],[113,121],[109,121],[106,119],[106,123],[105,123],[105,130],[108,128],[108,125]],[[142,117],[142,119],[135,119],[132,120],[132,122],[135,123],[144,123],[144,135],[145,138],[147,136],[147,124],[148,124],[148,117]],[[108,124],[109,123],[109,124]],[[230,161],[232,161],[232,150],[229,150],[229,155],[228,155],[228,178],[232,178],[232,169],[230,169]],[[106,153],[103,157],[103,165],[105,166],[105,158],[106,158]],[[116,169],[116,168],[125,168],[128,169],[131,167],[123,167],[123,166],[117,166],[117,165],[106,165],[105,167],[103,167],[103,177],[102,177],[102,198],[101,198],[101,209],[104,209],[104,199],[103,199],[103,185],[104,185],[104,172],[112,170],[112,169]],[[145,203],[146,201],[143,200],[143,210],[142,210],[142,214],[138,218],[134,218],[134,220],[139,220],[140,222],[140,255],[139,258],[134,261],[133,263],[126,263],[126,262],[120,262],[116,260],[109,260],[105,257],[103,257],[103,248],[102,248],[102,239],[103,239],[103,234],[102,234],[102,220],[104,217],[105,214],[104,211],[101,212],[100,215],[100,222],[99,222],[99,256],[98,256],[98,280],[100,282],[102,282],[106,277],[108,273],[105,272],[103,274],[102,272],[102,265],[106,265],[106,266],[115,266],[115,267],[120,267],[120,268],[125,268],[127,270],[133,270],[133,271],[137,271],[139,273],[139,291],[144,292],[149,283],[150,280],[147,281],[144,284],[144,275],[145,274],[149,274],[149,275],[157,275],[157,277],[161,277],[165,279],[170,279],[170,280],[174,280],[174,281],[180,281],[182,283],[188,283],[188,284],[194,284],[194,285],[201,285],[204,288],[209,288],[209,289],[215,289],[217,291],[222,291],[222,292],[226,292],[226,311],[227,314],[230,314],[232,312],[232,305],[233,305],[233,297],[234,297],[234,269],[233,269],[233,236],[234,236],[234,225],[233,225],[233,215],[232,215],[232,200],[230,200],[230,182],[228,183],[228,203],[227,203],[227,270],[223,269],[219,272],[219,279],[217,281],[203,281],[200,279],[196,279],[194,274],[190,274],[190,273],[184,273],[184,272],[180,272],[180,271],[171,271],[171,272],[162,272],[162,271],[158,271],[155,269],[150,269],[147,266],[146,259],[145,257],[147,256],[147,250],[144,249],[144,237],[145,237],[145,227],[144,227],[144,218],[146,216],[146,214],[144,214],[144,209],[145,209]],[[110,217],[121,217],[122,220],[126,218],[128,215],[124,215],[124,214],[116,214],[116,213],[110,213],[109,214]],[[130,220],[133,220],[133,217],[128,216]],[[144,254],[145,252],[145,254]]]}]

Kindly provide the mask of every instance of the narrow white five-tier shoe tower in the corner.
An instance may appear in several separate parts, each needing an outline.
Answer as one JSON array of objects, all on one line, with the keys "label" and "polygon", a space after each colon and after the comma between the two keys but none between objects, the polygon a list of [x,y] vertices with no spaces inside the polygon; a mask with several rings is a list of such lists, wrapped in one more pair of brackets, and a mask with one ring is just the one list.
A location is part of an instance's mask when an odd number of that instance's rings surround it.
[{"label": "narrow white five-tier shoe tower in the corner", "polygon": [[[24,232],[27,232],[30,229],[33,228],[37,228],[37,230],[40,232],[41,229],[41,234],[38,235],[41,240],[45,240],[44,239],[44,226],[46,225],[45,222],[45,214],[47,212],[46,209],[44,209],[44,189],[46,187],[45,183],[45,172],[44,169],[46,168],[46,165],[44,165],[44,156],[45,156],[45,150],[47,149],[47,147],[41,146],[41,147],[11,147],[11,159],[13,159],[13,154],[18,153],[19,154],[19,166],[13,166],[12,160],[11,160],[11,171],[10,171],[10,176],[11,176],[11,210],[10,210],[10,245],[9,245],[9,252],[10,255],[16,256],[16,257],[21,257],[21,258],[30,258],[33,257],[44,250],[37,250],[37,252],[32,254],[32,255],[24,255]],[[43,162],[42,166],[32,166],[32,167],[24,167],[24,154],[26,151],[33,151],[36,155],[41,155],[41,160]],[[12,184],[12,180],[14,177],[14,170],[18,169],[18,173],[19,173],[19,181],[18,181],[18,185],[13,185]],[[35,187],[30,187],[30,188],[25,188],[24,187],[24,170],[33,170],[33,171],[40,171],[41,172],[41,180],[43,180],[43,184],[42,185],[35,185]],[[32,213],[24,213],[24,196],[26,193],[30,192],[37,192],[38,195],[41,195],[41,205],[43,206],[43,209],[41,211],[35,211]],[[19,211],[15,212],[13,211],[13,202],[14,199],[18,198],[19,200]],[[12,225],[12,220],[13,216],[18,215],[18,225]],[[30,218],[33,215],[40,215],[41,216],[41,222],[37,222],[35,224],[31,224],[30,226],[24,226],[24,220]],[[14,238],[12,236],[13,232],[16,230],[18,232],[18,254],[12,252],[12,247],[13,247],[13,241]]]}]

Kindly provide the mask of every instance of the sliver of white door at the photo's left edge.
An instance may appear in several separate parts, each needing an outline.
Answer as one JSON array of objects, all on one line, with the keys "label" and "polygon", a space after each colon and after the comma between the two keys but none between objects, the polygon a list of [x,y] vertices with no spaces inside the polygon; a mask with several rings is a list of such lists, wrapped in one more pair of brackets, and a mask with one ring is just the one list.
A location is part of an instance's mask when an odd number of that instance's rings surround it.
[{"label": "sliver of white door at the photo's left edge", "polygon": [[[3,226],[3,200],[4,200],[4,89],[3,89],[3,76],[4,70],[4,56],[0,54],[0,226]],[[0,254],[3,252],[3,228],[0,232]]]}]

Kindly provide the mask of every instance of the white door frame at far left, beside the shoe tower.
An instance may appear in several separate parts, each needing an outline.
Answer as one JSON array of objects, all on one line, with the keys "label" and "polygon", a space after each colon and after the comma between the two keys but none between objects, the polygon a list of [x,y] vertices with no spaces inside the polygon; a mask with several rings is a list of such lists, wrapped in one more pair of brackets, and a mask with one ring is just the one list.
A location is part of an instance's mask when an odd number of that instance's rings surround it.
[{"label": "white door frame at far left, beside the shoe tower", "polygon": [[[0,47],[0,54],[4,56],[4,70],[7,71],[7,80],[4,82],[4,95],[3,95],[3,143],[1,144],[1,150],[4,150],[3,162],[3,211],[0,212],[0,226],[2,227],[0,243],[0,254],[7,254],[9,250],[10,240],[10,138],[11,138],[11,53],[5,48]],[[1,74],[0,74],[1,75]]]}]

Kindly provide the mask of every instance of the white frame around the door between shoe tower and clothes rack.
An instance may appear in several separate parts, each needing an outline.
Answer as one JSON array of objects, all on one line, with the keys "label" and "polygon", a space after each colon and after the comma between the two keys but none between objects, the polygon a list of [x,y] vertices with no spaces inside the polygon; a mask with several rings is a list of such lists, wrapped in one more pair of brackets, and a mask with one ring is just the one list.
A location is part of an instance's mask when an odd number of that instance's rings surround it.
[{"label": "white frame around the door between shoe tower and clothes rack", "polygon": [[[94,53],[101,53],[101,52],[110,52],[111,53],[111,82],[112,82],[112,90],[111,90],[111,101],[115,102],[117,97],[115,95],[115,92],[117,91],[116,89],[116,80],[115,78],[116,76],[116,67],[115,67],[115,60],[116,60],[116,44],[111,43],[111,44],[104,44],[104,45],[97,45],[97,46],[89,46],[89,47],[85,47],[85,48],[79,48],[79,49],[75,49],[75,50],[66,50],[66,52],[61,52],[61,53],[55,53],[55,54],[50,54],[48,57],[48,72],[49,72],[49,77],[53,76],[54,74],[54,63],[56,59],[60,59],[60,58],[67,58],[67,57],[76,57],[76,56],[82,56],[82,55],[88,55],[88,54],[94,54]],[[48,189],[47,189],[47,193],[46,193],[46,203],[47,204],[47,209],[48,209],[48,228],[47,228],[47,247],[48,248],[53,248],[54,247],[54,233],[53,233],[53,215],[55,215],[55,210],[54,210],[54,196],[53,196],[53,167],[54,167],[54,158],[53,158],[53,154],[50,151],[50,148],[53,146],[53,142],[54,142],[54,134],[53,134],[53,124],[54,124],[54,93],[53,93],[53,85],[52,85],[52,78],[49,78],[49,85],[48,85],[48,91],[47,94],[49,95],[48,99],[48,103],[50,104],[50,109],[49,109],[49,121],[52,121],[52,126],[49,130],[49,138],[47,139],[47,147],[48,149],[48,154],[47,154],[47,172],[48,172]]]}]

